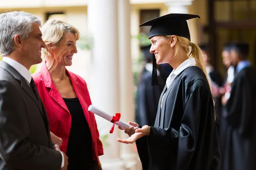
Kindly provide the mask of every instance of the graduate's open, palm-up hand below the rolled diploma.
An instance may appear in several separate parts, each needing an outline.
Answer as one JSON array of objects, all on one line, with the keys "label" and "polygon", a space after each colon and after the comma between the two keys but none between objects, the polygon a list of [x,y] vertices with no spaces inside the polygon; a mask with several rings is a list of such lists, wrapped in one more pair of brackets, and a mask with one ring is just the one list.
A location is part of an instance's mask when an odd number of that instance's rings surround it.
[{"label": "graduate's open, palm-up hand below the rolled diploma", "polygon": [[128,139],[120,139],[117,138],[116,140],[118,142],[122,142],[125,144],[132,144],[134,143],[137,139],[140,139],[143,136],[146,136],[150,133],[150,127],[148,125],[143,126],[142,128],[138,128],[135,130],[135,133],[131,135]]}]

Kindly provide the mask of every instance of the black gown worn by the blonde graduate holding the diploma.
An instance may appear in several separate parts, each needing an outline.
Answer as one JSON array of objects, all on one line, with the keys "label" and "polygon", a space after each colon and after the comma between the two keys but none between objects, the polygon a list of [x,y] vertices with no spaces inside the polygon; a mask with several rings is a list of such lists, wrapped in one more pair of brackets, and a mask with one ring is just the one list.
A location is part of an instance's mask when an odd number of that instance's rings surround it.
[{"label": "black gown worn by the blonde graduate holding the diploma", "polygon": [[136,141],[143,170],[219,170],[214,106],[204,72],[190,66],[165,87],[150,134]]}]

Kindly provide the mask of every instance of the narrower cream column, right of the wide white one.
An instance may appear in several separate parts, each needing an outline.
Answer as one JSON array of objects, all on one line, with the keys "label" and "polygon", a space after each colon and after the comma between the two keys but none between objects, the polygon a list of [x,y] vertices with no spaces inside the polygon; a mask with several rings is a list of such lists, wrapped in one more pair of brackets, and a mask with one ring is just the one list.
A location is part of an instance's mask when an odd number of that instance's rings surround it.
[{"label": "narrower cream column, right of the wide white one", "polygon": [[[118,32],[119,32],[119,90],[121,119],[134,122],[134,89],[131,65],[131,5],[129,0],[118,0]],[[122,138],[128,138],[125,133]],[[140,164],[138,154],[134,152],[134,145],[121,144],[121,158],[128,170],[135,169]]]}]

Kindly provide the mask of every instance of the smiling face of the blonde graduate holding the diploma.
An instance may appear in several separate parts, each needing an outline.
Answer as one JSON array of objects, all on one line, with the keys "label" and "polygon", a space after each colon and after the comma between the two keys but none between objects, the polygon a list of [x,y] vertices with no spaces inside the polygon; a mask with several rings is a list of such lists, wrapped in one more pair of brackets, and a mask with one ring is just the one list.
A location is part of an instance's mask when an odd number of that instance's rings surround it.
[{"label": "smiling face of the blonde graduate holding the diploma", "polygon": [[150,52],[157,59],[157,64],[169,63],[170,56],[175,55],[175,50],[171,47],[170,42],[163,36],[151,37]]}]

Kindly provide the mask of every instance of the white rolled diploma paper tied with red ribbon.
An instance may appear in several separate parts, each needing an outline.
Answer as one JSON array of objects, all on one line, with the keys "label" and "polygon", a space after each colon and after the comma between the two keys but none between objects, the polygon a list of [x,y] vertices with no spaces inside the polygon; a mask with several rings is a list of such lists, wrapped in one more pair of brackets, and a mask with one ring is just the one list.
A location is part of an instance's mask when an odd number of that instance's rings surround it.
[{"label": "white rolled diploma paper tied with red ribbon", "polygon": [[[113,115],[109,114],[109,113],[106,113],[105,111],[102,111],[100,110],[99,108],[96,108],[95,106],[93,105],[90,105],[88,107],[88,111],[90,112],[93,112],[94,114],[102,117],[103,119],[106,119],[108,120],[109,122],[111,122],[111,120],[113,119]],[[122,115],[121,115],[122,116]],[[116,125],[124,128],[124,129],[127,129],[128,127],[130,127],[131,125],[128,124],[127,122],[125,121],[122,121],[121,119],[119,119],[118,122],[116,122]]]}]

